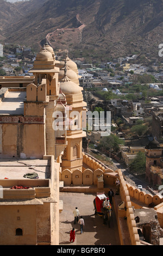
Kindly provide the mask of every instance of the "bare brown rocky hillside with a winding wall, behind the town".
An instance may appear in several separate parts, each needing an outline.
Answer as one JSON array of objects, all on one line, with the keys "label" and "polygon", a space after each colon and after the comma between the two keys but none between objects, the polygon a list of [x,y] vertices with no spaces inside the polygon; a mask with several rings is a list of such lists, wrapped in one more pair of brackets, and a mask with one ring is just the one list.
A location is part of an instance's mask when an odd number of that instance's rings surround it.
[{"label": "bare brown rocky hillside with a winding wall, behind the town", "polygon": [[1,40],[36,48],[158,58],[163,43],[163,0],[0,0],[0,17]]}]

